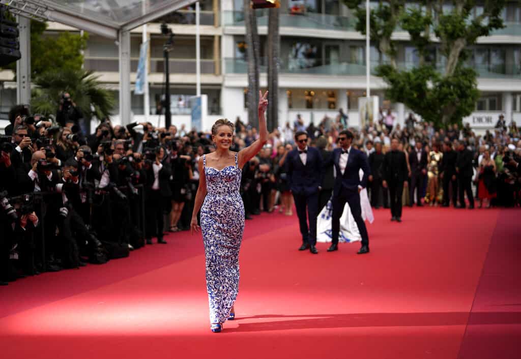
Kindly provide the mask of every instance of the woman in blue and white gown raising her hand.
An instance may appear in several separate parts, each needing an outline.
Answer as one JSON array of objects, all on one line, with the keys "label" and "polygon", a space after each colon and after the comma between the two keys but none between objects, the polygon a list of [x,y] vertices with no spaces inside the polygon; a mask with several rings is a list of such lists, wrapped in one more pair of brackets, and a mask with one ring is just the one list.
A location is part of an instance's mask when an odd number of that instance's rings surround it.
[{"label": "woman in blue and white gown raising her hand", "polygon": [[[233,304],[239,292],[239,249],[244,231],[244,205],[239,193],[242,167],[268,140],[264,113],[267,91],[259,93],[259,139],[240,152],[231,152],[233,123],[217,120],[212,127],[216,150],[199,159],[199,188],[195,196],[190,228],[201,229],[206,258],[206,288],[210,328],[220,332],[227,319],[234,319]],[[201,209],[201,227],[197,213]]]}]

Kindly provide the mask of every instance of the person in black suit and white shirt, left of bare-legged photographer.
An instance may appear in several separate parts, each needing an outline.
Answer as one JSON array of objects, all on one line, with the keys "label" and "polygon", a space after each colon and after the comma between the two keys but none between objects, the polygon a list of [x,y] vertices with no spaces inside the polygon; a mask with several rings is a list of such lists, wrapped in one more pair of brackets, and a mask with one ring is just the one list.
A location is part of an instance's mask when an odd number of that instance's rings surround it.
[{"label": "person in black suit and white shirt, left of bare-legged photographer", "polygon": [[163,212],[165,203],[170,201],[172,195],[169,183],[172,174],[170,163],[162,146],[155,147],[154,151],[147,152],[146,156],[146,243],[152,244],[152,237],[157,237],[157,243],[166,244],[163,239]]}]

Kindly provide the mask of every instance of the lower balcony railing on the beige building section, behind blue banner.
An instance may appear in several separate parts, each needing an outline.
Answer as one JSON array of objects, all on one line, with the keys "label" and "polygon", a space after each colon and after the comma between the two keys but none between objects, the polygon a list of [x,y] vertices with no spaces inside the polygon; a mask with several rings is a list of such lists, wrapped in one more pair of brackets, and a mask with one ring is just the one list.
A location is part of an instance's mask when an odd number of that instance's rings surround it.
[{"label": "lower balcony railing on the beige building section, behind blue banner", "polygon": [[[201,59],[201,73],[214,74],[216,70],[216,61]],[[130,60],[130,71],[135,72],[138,69],[139,59]],[[100,72],[118,72],[119,60],[114,57],[86,57],[85,69]],[[170,73],[195,73],[195,59],[170,59]],[[163,72],[165,60],[162,58],[150,59],[150,72]]]}]

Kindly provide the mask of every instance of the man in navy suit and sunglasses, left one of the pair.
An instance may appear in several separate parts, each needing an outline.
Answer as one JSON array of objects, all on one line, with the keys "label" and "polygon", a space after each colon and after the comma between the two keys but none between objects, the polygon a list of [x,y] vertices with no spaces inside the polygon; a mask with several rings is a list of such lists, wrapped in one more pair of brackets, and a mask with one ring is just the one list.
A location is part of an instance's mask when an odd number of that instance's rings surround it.
[{"label": "man in navy suit and sunglasses, left one of the pair", "polygon": [[[322,157],[316,148],[307,145],[306,132],[297,131],[295,142],[297,148],[290,151],[286,158],[286,173],[302,233],[302,246],[299,251],[309,248],[311,253],[317,254],[315,244],[317,242],[318,192],[322,182]],[[306,207],[309,227],[306,220]]]}]

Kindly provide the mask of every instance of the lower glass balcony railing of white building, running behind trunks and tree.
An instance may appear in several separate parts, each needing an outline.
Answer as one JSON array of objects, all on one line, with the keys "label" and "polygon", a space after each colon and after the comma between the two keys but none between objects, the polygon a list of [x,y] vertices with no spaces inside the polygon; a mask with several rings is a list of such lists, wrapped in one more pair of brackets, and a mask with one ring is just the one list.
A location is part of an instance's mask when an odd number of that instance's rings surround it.
[{"label": "lower glass balcony railing of white building, running behind trunks and tree", "polygon": [[[259,71],[266,72],[266,58],[261,58]],[[371,63],[371,73],[375,74],[375,68],[380,65],[377,61]],[[399,62],[396,64],[400,70],[411,70],[417,66],[416,63]],[[226,58],[226,73],[247,73],[248,64],[244,59]],[[521,67],[512,66],[487,66],[487,65],[470,65],[476,69],[478,76],[481,78],[492,79],[521,79]],[[436,67],[441,71],[443,64],[437,64]],[[324,61],[315,60],[314,66],[305,66],[299,61],[280,61],[279,73],[295,73],[300,75],[330,75],[330,76],[365,76],[365,64],[353,64],[340,61]]]}]

